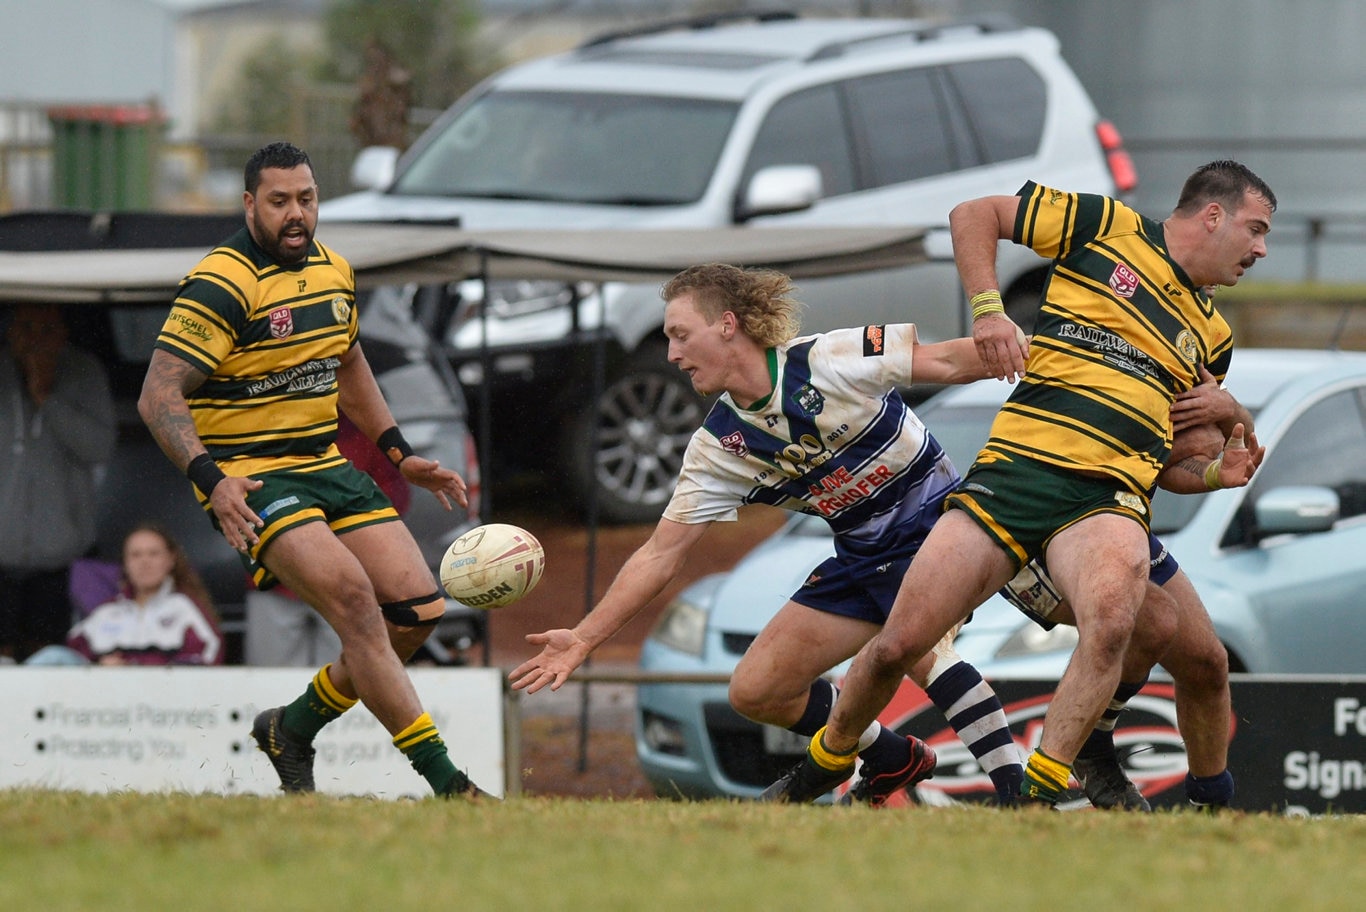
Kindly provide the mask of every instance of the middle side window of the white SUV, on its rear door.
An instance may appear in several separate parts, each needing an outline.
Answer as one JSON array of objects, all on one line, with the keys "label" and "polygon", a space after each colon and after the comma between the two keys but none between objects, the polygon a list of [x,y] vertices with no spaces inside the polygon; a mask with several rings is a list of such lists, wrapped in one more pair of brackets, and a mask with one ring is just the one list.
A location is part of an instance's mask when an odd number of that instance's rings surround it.
[{"label": "middle side window of the white SUV, on its rear door", "polygon": [[944,100],[929,68],[848,82],[867,142],[870,187],[932,177],[963,167],[944,127]]}]

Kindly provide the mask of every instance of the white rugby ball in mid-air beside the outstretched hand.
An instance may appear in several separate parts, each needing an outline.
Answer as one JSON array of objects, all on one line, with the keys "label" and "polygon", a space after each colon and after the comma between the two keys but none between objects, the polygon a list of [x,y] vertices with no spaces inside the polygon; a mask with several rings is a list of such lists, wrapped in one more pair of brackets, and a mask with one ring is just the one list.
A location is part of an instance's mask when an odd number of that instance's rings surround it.
[{"label": "white rugby ball in mid-air beside the outstretched hand", "polygon": [[541,582],[545,549],[535,535],[508,523],[477,526],[441,557],[441,587],[470,608],[503,608]]}]

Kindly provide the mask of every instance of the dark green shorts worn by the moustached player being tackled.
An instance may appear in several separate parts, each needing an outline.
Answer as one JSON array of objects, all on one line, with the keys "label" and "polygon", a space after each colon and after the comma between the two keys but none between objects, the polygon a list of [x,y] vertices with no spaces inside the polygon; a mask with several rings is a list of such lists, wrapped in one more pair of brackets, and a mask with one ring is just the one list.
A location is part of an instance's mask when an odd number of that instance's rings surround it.
[{"label": "dark green shorts worn by the moustached player being tackled", "polygon": [[1147,530],[1147,498],[1108,478],[1012,456],[973,463],[945,501],[977,520],[1015,562],[1044,557],[1049,539],[1097,513],[1128,516]]}]

